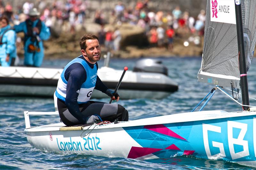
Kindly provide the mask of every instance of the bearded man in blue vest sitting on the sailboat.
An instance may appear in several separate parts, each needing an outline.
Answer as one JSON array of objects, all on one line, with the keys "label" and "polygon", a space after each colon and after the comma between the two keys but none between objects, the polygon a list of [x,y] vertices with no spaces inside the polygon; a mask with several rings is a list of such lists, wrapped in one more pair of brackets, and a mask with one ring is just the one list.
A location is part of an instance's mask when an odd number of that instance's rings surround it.
[{"label": "bearded man in blue vest sitting on the sailboat", "polygon": [[106,93],[112,100],[119,95],[108,89],[97,76],[101,56],[99,39],[85,34],[80,39],[82,55],[69,62],[61,73],[54,103],[57,104],[60,119],[67,126],[102,121],[128,121],[128,111],[121,105],[91,101],[93,89]]}]

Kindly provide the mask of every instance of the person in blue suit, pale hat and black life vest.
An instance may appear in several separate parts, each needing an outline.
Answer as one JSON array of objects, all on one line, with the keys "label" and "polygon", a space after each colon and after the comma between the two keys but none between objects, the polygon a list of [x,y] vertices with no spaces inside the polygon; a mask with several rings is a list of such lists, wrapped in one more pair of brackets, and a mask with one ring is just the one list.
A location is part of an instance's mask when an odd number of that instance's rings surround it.
[{"label": "person in blue suit, pale hat and black life vest", "polygon": [[45,26],[38,16],[40,13],[36,8],[29,10],[29,18],[15,25],[14,29],[17,33],[25,33],[24,42],[24,65],[32,67],[40,67],[44,59],[43,40],[50,38],[50,29]]}]

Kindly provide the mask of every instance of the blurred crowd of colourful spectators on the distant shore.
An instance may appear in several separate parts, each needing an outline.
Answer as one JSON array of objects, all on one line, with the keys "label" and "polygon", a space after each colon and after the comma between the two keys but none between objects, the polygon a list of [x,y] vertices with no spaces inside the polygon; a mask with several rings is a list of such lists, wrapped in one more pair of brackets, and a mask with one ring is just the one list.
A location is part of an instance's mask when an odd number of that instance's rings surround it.
[{"label": "blurred crowd of colourful spectators on the distant shore", "polygon": [[[179,6],[170,11],[154,11],[149,8],[149,0],[138,0],[134,7],[120,1],[106,14],[104,10],[89,12],[87,7],[90,3],[88,0],[54,0],[50,4],[49,1],[39,1],[37,4],[28,1],[13,10],[11,3],[4,4],[0,0],[0,17],[6,15],[13,25],[17,25],[26,20],[29,9],[36,7],[41,13],[40,19],[51,32],[57,33],[76,33],[84,27],[85,20],[91,20],[99,24],[100,44],[109,50],[120,49],[122,35],[119,26],[123,23],[143,28],[151,46],[168,47],[170,50],[175,36],[204,34],[204,10],[193,17],[188,11],[181,11]],[[113,29],[106,29],[107,24],[113,26]]]}]

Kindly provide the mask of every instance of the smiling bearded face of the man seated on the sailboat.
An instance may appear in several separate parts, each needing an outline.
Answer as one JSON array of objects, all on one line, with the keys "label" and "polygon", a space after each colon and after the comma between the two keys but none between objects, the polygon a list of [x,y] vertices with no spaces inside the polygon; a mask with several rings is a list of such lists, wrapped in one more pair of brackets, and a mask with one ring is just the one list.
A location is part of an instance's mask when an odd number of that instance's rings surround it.
[{"label": "smiling bearded face of the man seated on the sailboat", "polygon": [[85,51],[82,49],[81,52],[89,63],[95,64],[101,56],[99,41],[97,39],[86,40],[86,45]]}]

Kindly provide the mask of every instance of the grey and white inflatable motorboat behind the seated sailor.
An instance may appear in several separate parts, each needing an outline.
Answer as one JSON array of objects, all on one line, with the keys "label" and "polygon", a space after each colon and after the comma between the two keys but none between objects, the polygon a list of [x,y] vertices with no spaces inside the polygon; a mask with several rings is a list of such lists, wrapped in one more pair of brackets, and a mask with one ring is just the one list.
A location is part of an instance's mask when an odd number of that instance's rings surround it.
[{"label": "grey and white inflatable motorboat behind the seated sailor", "polygon": [[[0,96],[52,97],[62,70],[0,66]],[[98,76],[108,88],[115,89],[122,72],[103,66],[98,69]],[[118,93],[122,99],[161,99],[177,90],[178,84],[168,77],[167,68],[161,61],[142,59],[133,70],[127,70]],[[92,98],[105,97],[108,96],[97,90],[92,93]]]}]

